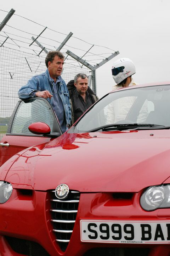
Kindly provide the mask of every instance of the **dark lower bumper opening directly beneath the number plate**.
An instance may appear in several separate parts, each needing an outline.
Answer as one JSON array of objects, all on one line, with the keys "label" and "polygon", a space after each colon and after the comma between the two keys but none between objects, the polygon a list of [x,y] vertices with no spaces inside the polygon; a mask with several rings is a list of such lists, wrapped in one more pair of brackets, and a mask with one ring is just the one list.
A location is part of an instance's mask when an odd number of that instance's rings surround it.
[{"label": "dark lower bumper opening directly beneath the number plate", "polygon": [[148,256],[148,248],[97,247],[85,252],[83,256]]}]

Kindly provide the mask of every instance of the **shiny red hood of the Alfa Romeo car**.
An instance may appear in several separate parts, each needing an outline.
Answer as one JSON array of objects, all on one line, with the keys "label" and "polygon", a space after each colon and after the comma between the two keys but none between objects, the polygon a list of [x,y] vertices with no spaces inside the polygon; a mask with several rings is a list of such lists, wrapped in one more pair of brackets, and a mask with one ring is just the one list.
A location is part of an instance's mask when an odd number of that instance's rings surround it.
[{"label": "shiny red hood of the Alfa Romeo car", "polygon": [[24,152],[7,172],[14,188],[138,192],[170,176],[169,130],[63,134]]}]

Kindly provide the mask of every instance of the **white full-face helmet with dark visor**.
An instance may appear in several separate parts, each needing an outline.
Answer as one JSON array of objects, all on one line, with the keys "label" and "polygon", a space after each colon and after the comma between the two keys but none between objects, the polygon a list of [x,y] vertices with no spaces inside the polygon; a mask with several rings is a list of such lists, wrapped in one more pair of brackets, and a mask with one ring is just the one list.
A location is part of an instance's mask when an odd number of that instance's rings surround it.
[{"label": "white full-face helmet with dark visor", "polygon": [[135,72],[135,65],[128,58],[122,58],[113,63],[112,76],[117,84],[120,84],[127,77],[132,76]]}]

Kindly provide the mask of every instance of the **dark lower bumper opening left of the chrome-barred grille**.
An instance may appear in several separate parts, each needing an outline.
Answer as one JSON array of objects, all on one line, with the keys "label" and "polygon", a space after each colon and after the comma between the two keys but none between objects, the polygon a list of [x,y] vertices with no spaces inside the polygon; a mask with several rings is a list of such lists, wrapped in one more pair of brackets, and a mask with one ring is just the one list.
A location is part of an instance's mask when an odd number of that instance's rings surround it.
[{"label": "dark lower bumper opening left of the chrome-barred grille", "polygon": [[27,256],[50,256],[48,252],[38,243],[33,241],[19,239],[11,236],[5,236],[8,244],[12,250],[17,252],[19,255]]}]

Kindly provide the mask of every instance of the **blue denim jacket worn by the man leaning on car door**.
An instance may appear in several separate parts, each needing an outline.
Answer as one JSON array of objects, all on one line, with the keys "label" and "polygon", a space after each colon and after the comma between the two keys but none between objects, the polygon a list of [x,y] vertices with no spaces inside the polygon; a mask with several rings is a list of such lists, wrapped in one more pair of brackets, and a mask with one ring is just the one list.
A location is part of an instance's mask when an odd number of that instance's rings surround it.
[{"label": "blue denim jacket worn by the man leaning on car door", "polygon": [[[67,127],[69,127],[72,119],[71,115],[71,108],[70,108],[70,102],[69,102],[69,93],[66,86],[65,81],[62,79],[59,85],[59,95],[63,102],[64,106],[64,112],[66,117],[66,123]],[[19,91],[18,96],[21,100],[26,100],[33,98],[33,93],[36,91],[45,91],[48,90],[53,95],[53,85],[49,77],[48,69],[45,71],[45,73],[42,73],[40,75],[36,75],[28,80],[28,83],[26,85],[23,85]],[[53,98],[47,98],[47,100],[52,105]]]}]

